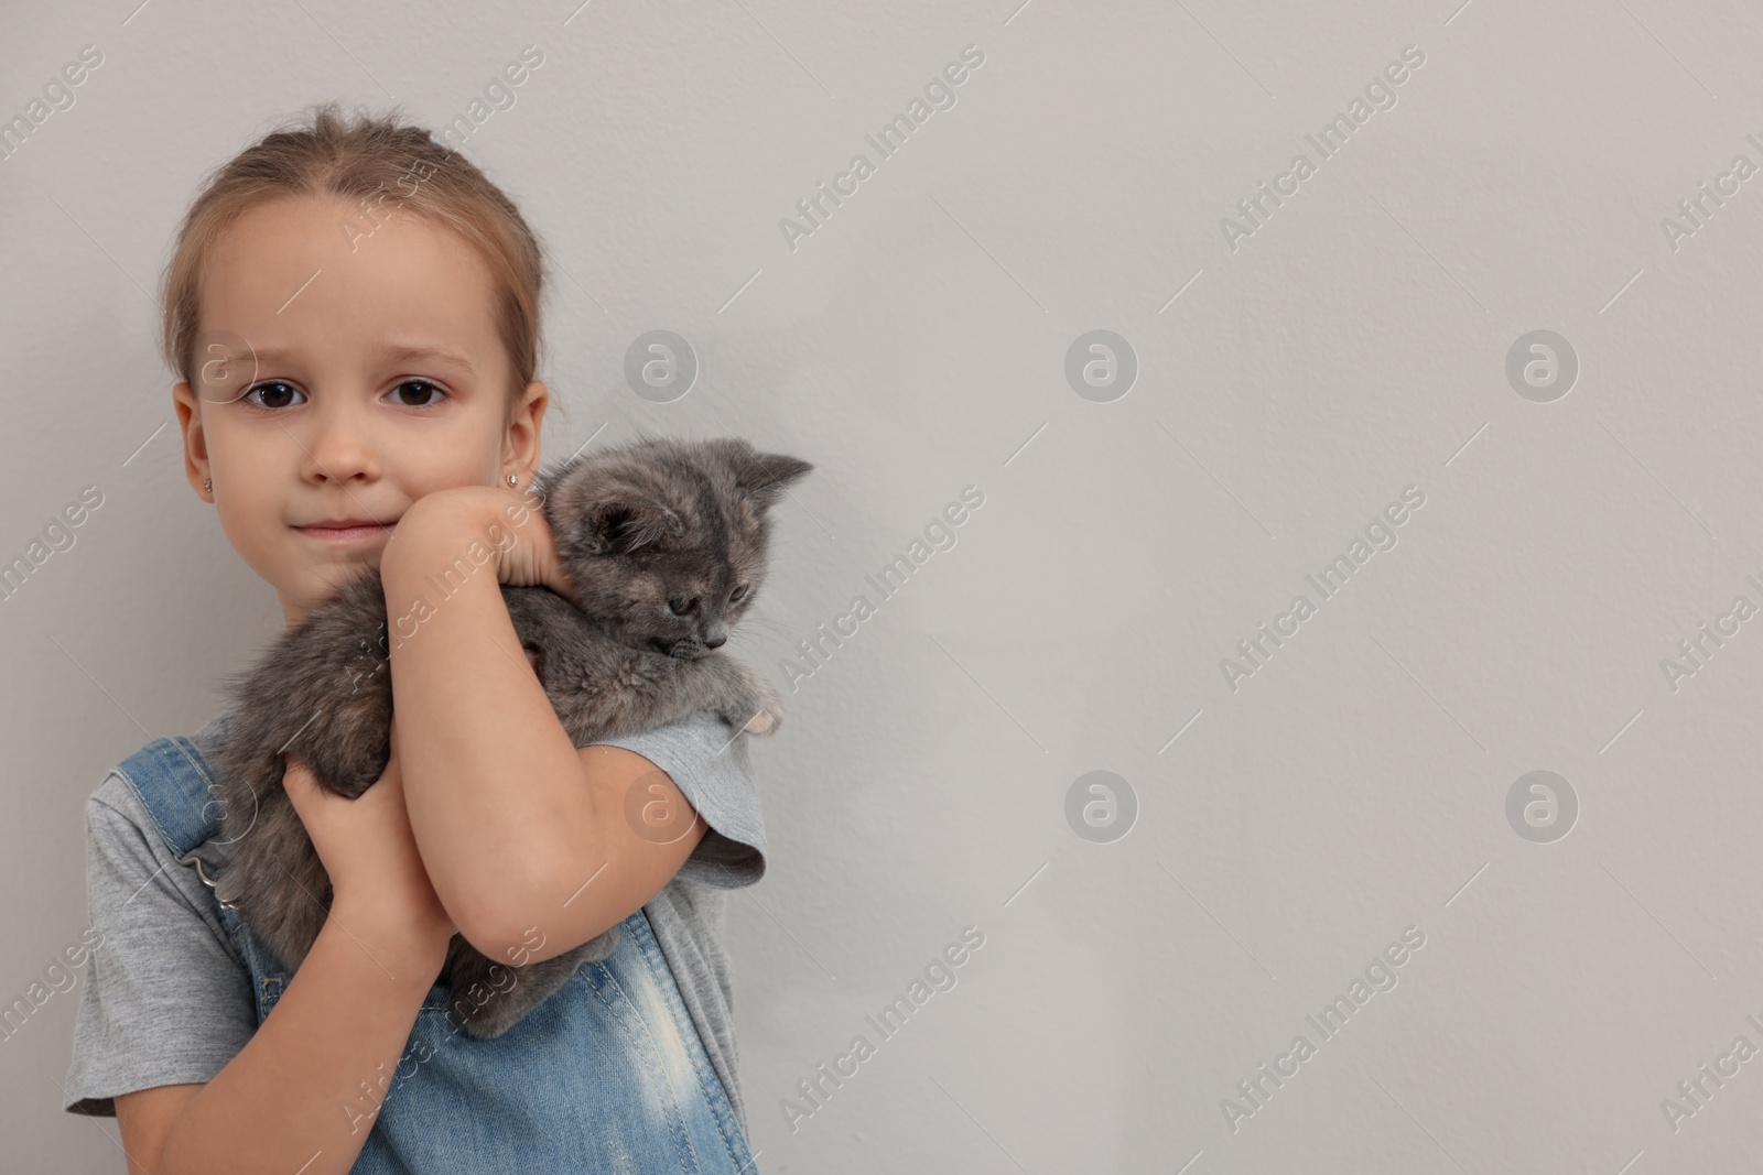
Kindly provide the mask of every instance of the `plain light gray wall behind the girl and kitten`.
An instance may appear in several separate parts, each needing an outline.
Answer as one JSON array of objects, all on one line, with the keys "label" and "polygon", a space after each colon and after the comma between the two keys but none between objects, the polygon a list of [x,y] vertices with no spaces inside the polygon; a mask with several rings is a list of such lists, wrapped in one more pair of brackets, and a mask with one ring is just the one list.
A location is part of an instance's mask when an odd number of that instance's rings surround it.
[{"label": "plain light gray wall behind the girl and kitten", "polygon": [[[280,625],[155,432],[148,291],[199,178],[317,99],[439,127],[538,44],[467,151],[566,273],[547,453],[605,425],[818,465],[742,655],[783,684],[864,574],[986,493],[755,745],[772,863],[730,939],[762,1170],[1756,1156],[1763,1059],[1677,1131],[1661,1099],[1763,1048],[1763,620],[1675,692],[1659,662],[1763,606],[1763,178],[1677,250],[1659,222],[1763,166],[1763,21],[1017,2],[12,4],[0,116],[83,44],[106,62],[0,162],[0,553],[85,484],[106,502],[0,604],[0,1002],[85,925],[85,796]],[[966,44],[956,107],[792,252],[777,220],[876,162],[862,136]],[[1220,218],[1407,44],[1398,104],[1232,252]],[[668,405],[622,381],[656,328],[702,361]],[[1063,375],[1091,329],[1141,363],[1112,403]],[[1532,329],[1580,356],[1553,403],[1504,375]],[[1400,543],[1232,692],[1220,659],[1317,602],[1305,574],[1407,484]],[[1553,844],[1506,819],[1539,768],[1581,807]],[[1065,819],[1093,770],[1139,800],[1112,844]],[[779,1099],[966,925],[959,985],[792,1133]],[[1320,1043],[1305,1015],[1409,925],[1400,985]],[[60,1112],[76,1004],[0,1045],[19,1170],[122,1170],[113,1122]],[[1317,1055],[1232,1133],[1220,1101],[1299,1032]]]}]

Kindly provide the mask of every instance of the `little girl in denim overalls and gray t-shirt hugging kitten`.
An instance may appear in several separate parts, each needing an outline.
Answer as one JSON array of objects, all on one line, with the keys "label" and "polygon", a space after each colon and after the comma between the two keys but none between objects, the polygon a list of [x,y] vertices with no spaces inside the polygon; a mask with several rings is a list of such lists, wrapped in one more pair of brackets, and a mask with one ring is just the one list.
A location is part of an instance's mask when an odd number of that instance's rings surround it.
[{"label": "little girl in denim overalls and gray t-shirt hugging kitten", "polygon": [[[381,780],[344,800],[286,766],[333,890],[293,974],[213,888],[227,713],[86,802],[102,939],[65,1108],[115,1113],[130,1175],[755,1170],[721,946],[721,890],[765,872],[746,738],[700,713],[573,747],[499,590],[571,594],[522,491],[543,270],[462,155],[333,104],[185,217],[162,342],[190,484],[289,625],[377,565],[402,639]],[[520,965],[612,927],[506,1034],[453,1029],[494,997],[435,983],[455,932]]]}]

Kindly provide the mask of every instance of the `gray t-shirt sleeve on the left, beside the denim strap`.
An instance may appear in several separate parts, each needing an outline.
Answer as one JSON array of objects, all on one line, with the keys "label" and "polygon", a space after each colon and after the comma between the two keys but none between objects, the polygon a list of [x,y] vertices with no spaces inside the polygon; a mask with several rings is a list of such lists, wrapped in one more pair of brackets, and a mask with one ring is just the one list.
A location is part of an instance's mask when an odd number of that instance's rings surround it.
[{"label": "gray t-shirt sleeve on the left, beside the denim strap", "polygon": [[[86,800],[85,990],[63,1110],[115,1117],[116,1094],[212,1080],[257,1031],[250,976],[196,902],[146,810],[109,777]],[[138,823],[139,821],[139,823]]]}]

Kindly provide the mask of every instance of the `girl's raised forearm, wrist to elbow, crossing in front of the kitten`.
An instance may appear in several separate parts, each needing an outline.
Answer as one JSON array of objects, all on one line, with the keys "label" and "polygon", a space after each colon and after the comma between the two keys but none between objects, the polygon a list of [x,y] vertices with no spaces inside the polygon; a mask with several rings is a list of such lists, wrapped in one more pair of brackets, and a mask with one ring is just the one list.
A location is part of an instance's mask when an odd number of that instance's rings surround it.
[{"label": "girl's raised forearm, wrist to elbow, crossing in front of the kitten", "polygon": [[413,507],[381,560],[411,831],[441,904],[490,957],[487,939],[554,900],[562,861],[598,853],[580,756],[502,602],[494,548],[511,534],[490,509]]}]

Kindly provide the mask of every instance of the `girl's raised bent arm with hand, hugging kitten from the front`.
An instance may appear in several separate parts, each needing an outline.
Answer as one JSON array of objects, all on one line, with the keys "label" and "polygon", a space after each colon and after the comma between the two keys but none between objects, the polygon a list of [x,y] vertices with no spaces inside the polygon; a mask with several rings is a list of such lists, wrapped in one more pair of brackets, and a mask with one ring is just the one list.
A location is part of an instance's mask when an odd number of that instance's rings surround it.
[{"label": "girl's raised bent arm with hand, hugging kitten from the front", "polygon": [[[557,721],[501,592],[573,590],[534,500],[430,493],[398,520],[379,571],[411,830],[460,934],[527,964],[619,925],[705,826],[649,759],[577,749]],[[633,793],[642,828],[628,817]]]}]

